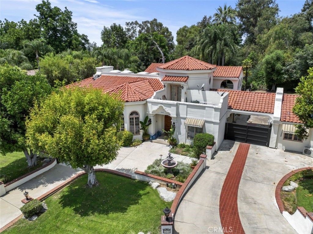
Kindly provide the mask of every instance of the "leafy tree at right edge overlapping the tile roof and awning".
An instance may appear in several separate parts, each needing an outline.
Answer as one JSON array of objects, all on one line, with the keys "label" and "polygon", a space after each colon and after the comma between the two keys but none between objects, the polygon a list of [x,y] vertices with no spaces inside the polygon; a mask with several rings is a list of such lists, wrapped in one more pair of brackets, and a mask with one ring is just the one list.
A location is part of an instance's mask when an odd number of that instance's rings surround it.
[{"label": "leafy tree at right edge overlapping the tile roof and awning", "polygon": [[300,96],[296,98],[292,112],[295,113],[299,120],[304,124],[297,125],[295,134],[302,139],[307,139],[306,128],[313,128],[313,68],[308,70],[307,76],[300,78],[299,85],[295,91]]}]

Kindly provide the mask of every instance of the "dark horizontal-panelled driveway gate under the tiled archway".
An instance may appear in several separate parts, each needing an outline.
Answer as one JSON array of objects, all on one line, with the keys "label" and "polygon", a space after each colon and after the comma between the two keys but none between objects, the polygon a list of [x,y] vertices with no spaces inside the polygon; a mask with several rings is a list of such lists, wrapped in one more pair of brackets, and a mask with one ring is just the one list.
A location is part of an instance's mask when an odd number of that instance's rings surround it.
[{"label": "dark horizontal-panelled driveway gate under the tiled archway", "polygon": [[226,123],[224,139],[269,146],[271,128]]}]

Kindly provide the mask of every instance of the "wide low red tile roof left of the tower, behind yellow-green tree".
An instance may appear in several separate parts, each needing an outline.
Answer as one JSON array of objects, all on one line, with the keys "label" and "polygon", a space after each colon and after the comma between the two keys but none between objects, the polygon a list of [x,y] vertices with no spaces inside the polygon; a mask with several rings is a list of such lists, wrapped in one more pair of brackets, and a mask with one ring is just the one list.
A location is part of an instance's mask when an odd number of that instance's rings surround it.
[{"label": "wide low red tile roof left of the tower, behind yellow-green tree", "polygon": [[70,84],[68,86],[80,86],[102,89],[103,92],[119,93],[125,102],[143,101],[151,98],[155,91],[163,89],[163,84],[158,78],[130,77],[101,75],[97,79],[93,77]]}]

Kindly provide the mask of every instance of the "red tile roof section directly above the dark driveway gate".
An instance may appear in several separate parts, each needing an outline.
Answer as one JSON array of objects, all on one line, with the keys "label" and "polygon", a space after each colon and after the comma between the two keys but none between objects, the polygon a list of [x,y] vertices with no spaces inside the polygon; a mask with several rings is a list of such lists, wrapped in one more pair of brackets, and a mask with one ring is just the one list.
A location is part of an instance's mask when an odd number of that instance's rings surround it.
[{"label": "red tile roof section directly above the dark driveway gate", "polygon": [[228,92],[228,108],[262,113],[274,113],[275,93],[257,93],[238,90],[218,89]]}]

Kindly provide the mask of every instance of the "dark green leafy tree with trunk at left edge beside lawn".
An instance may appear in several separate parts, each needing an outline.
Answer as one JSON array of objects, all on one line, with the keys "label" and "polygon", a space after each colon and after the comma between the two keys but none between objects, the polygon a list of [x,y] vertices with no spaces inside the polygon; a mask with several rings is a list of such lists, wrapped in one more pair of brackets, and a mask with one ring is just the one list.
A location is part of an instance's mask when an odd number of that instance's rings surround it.
[{"label": "dark green leafy tree with trunk at left edge beside lawn", "polygon": [[51,92],[51,87],[43,75],[28,76],[8,64],[0,66],[0,81],[0,153],[24,152],[28,166],[37,165],[34,148],[30,147],[28,151],[26,144],[25,120],[34,102],[40,103]]}]

